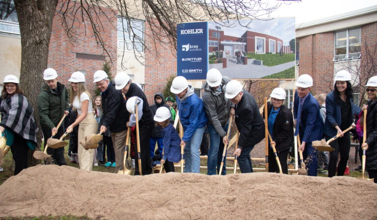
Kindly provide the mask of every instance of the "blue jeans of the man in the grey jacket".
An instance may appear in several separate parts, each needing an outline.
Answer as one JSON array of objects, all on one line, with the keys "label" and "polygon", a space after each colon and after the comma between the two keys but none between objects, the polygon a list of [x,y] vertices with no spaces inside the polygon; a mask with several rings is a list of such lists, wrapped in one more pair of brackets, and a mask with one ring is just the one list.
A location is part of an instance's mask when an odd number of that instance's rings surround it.
[{"label": "blue jeans of the man in the grey jacket", "polygon": [[[229,124],[226,123],[225,126],[222,127],[222,129],[224,129],[224,131],[228,131],[228,125]],[[208,124],[207,127],[208,127],[208,133],[210,134],[210,149],[208,150],[207,174],[216,175],[220,171],[222,152],[224,150],[224,143],[222,143],[222,138],[217,133],[214,125]],[[216,172],[216,166],[217,166],[217,172]],[[224,165],[221,171],[221,175],[226,174],[225,168],[226,168],[226,152],[225,152]]]}]

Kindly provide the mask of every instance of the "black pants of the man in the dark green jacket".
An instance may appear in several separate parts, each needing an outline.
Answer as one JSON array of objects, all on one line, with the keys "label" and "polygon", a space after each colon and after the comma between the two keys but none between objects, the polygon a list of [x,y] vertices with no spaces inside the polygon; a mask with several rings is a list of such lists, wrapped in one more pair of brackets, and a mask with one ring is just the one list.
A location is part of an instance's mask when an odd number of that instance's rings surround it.
[{"label": "black pants of the man in the dark green jacket", "polygon": [[[43,137],[45,139],[44,147],[46,147],[47,139],[51,138],[52,132],[51,132],[51,129],[48,127],[42,127],[42,132],[43,132]],[[59,139],[63,134],[64,134],[64,126],[60,126],[54,138]],[[59,166],[65,165],[64,147],[59,147],[57,149],[48,147],[47,154],[52,155],[51,157],[54,160],[54,164],[59,165]],[[48,164],[48,163],[49,162],[45,160],[45,164]]]}]

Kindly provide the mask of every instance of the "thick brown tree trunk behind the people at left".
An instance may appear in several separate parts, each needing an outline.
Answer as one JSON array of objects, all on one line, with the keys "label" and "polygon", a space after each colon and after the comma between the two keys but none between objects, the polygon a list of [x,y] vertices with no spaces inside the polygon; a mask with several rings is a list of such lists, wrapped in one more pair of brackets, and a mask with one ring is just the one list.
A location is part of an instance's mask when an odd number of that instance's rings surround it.
[{"label": "thick brown tree trunk behind the people at left", "polygon": [[[39,126],[37,97],[44,82],[43,71],[47,68],[49,44],[57,0],[14,0],[21,33],[20,87],[34,108],[33,116]],[[40,149],[42,131],[37,134]],[[39,163],[29,151],[28,165]]]}]

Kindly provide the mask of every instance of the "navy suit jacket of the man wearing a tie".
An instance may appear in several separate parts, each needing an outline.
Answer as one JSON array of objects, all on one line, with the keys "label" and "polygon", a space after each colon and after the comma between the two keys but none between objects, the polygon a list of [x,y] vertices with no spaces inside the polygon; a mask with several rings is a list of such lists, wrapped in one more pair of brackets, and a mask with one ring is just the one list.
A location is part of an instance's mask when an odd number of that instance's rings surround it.
[{"label": "navy suit jacket of the man wearing a tie", "polygon": [[[299,97],[295,93],[295,102],[293,103],[293,114],[297,119]],[[326,106],[327,107],[327,106]],[[302,142],[309,143],[321,140],[323,137],[323,121],[320,113],[320,104],[312,94],[308,94],[302,104],[301,123],[298,133],[302,137]]]}]

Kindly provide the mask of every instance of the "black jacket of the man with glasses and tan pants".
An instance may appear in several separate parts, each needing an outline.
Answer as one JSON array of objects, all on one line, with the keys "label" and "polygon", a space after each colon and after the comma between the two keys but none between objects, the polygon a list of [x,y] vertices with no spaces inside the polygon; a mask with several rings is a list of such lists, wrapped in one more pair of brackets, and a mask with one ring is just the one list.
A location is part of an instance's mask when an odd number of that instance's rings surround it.
[{"label": "black jacket of the man with glasses and tan pants", "polygon": [[121,132],[127,129],[127,122],[130,117],[126,100],[122,92],[115,89],[115,83],[112,82],[108,89],[101,93],[103,114],[101,125],[106,126],[111,132]]}]

